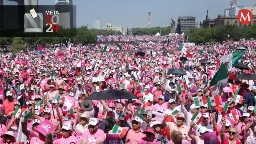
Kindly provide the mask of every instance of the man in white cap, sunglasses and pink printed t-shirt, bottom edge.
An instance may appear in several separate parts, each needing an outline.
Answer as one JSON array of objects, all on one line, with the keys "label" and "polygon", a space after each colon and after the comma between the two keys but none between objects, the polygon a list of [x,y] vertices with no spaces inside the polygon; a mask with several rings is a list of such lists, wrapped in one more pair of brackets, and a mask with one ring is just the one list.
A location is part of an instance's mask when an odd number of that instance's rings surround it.
[{"label": "man in white cap, sunglasses and pink printed t-shirt, bottom edge", "polygon": [[82,135],[82,144],[101,144],[105,140],[105,133],[99,129],[97,118],[90,119],[88,128]]}]

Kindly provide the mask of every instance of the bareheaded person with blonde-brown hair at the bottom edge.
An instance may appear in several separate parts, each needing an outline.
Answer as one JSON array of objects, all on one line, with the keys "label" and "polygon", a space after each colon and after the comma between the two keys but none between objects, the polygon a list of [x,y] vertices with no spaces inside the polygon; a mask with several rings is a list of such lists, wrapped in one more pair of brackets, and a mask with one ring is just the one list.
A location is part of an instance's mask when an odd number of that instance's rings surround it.
[{"label": "bareheaded person with blonde-brown hair at the bottom edge", "polygon": [[178,130],[171,131],[171,138],[167,144],[190,144],[187,140],[182,138],[182,133]]}]

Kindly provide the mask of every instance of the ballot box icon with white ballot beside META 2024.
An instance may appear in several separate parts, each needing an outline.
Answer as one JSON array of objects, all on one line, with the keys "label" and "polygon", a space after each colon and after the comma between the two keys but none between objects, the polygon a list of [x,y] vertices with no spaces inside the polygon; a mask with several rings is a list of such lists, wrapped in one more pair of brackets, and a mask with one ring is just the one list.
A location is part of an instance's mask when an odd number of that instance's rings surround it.
[{"label": "ballot box icon with white ballot beside META 2024", "polygon": [[43,32],[43,14],[36,13],[34,9],[30,13],[24,14],[24,32],[41,33]]}]

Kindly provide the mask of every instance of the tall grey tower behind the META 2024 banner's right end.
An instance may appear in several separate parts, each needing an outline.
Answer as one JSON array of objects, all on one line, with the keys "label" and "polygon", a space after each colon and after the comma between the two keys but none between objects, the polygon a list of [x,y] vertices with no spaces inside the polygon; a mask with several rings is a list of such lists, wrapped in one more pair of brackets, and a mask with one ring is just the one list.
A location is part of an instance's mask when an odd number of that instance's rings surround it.
[{"label": "tall grey tower behind the META 2024 banner's right end", "polygon": [[55,10],[59,12],[58,26],[64,29],[74,28],[73,0],[55,0]]}]

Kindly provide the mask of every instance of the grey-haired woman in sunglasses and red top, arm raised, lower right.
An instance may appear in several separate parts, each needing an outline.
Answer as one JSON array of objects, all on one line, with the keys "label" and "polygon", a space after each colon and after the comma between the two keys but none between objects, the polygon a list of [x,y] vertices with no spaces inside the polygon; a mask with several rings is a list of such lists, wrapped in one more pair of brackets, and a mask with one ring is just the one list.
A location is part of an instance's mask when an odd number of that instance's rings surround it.
[{"label": "grey-haired woman in sunglasses and red top, arm raised, lower right", "polygon": [[222,126],[220,129],[220,141],[222,144],[242,144],[239,139],[237,139],[239,135],[239,130],[237,127],[231,127],[228,131],[229,136],[225,135],[225,124],[227,120],[225,117],[222,118]]}]

